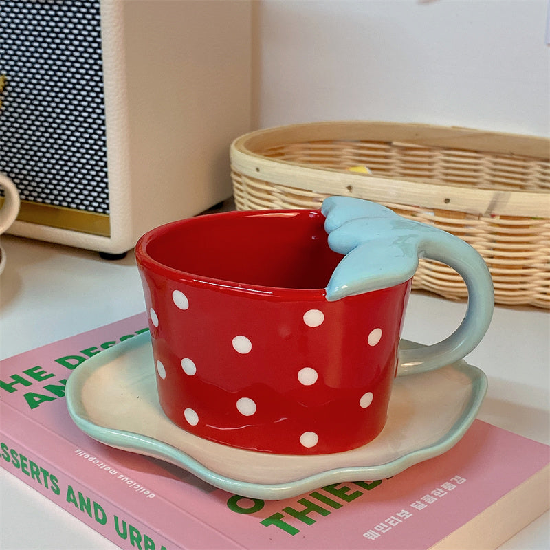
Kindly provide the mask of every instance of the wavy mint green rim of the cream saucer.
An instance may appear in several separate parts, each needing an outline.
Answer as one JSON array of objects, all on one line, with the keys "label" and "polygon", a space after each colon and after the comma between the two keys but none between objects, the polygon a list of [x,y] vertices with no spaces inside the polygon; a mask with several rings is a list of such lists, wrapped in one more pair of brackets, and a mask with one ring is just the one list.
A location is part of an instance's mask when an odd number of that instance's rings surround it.
[{"label": "wavy mint green rim of the cream saucer", "polygon": [[[150,342],[150,334],[142,333],[102,351],[98,355],[94,355],[80,365],[67,381],[65,395],[67,410],[69,411],[70,417],[72,417],[74,423],[76,423],[76,426],[78,426],[80,430],[85,432],[92,439],[100,441],[100,443],[120,450],[135,452],[144,456],[151,456],[155,459],[167,461],[168,463],[177,465],[191,474],[194,474],[203,481],[214,485],[214,487],[249,498],[281,500],[292,498],[333,483],[385,479],[395,476],[415,464],[440,456],[454,447],[454,445],[462,439],[468,428],[470,428],[473,421],[476,419],[478,410],[487,392],[487,377],[485,373],[483,373],[481,369],[478,369],[478,367],[467,364],[464,360],[460,360],[450,366],[470,378],[472,382],[470,399],[465,405],[462,415],[456,420],[448,433],[435,443],[404,454],[404,456],[400,456],[398,459],[382,465],[336,467],[331,470],[318,472],[285,483],[253,483],[234,479],[220,474],[219,472],[215,472],[186,452],[168,443],[135,432],[104,428],[83,417],[81,413],[82,404],[80,401],[80,391],[87,377],[96,369],[115,360],[120,355],[124,355],[124,353],[127,353],[133,348],[147,344],[150,345]],[[404,340],[403,343],[404,347],[418,345],[406,340]],[[420,373],[419,375],[422,374]]]}]

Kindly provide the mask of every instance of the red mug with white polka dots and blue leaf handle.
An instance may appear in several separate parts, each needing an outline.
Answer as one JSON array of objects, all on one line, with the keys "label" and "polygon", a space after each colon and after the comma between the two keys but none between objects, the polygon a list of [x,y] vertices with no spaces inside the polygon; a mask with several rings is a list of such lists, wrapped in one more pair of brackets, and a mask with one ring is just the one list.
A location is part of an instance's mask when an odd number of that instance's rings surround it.
[{"label": "red mug with white polka dots and blue leaf handle", "polygon": [[[492,316],[481,256],[375,203],[224,212],[168,223],[136,247],[159,401],[177,426],[238,448],[358,448],[386,422],[394,377],[472,351]],[[467,313],[451,336],[399,350],[419,256],[454,267]],[[153,366],[151,366],[153,368]]]}]

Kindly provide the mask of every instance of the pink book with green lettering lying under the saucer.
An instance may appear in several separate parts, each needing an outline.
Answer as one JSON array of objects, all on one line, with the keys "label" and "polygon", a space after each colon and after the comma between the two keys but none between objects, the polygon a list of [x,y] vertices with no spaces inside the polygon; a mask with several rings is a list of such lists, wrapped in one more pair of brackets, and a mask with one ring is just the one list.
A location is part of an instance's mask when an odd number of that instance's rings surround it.
[{"label": "pink book with green lettering lying under the saucer", "polygon": [[67,412],[67,378],[146,327],[139,314],[0,362],[0,464],[123,549],[496,548],[550,507],[550,448],[478,420],[392,478],[286,500],[99,443]]}]

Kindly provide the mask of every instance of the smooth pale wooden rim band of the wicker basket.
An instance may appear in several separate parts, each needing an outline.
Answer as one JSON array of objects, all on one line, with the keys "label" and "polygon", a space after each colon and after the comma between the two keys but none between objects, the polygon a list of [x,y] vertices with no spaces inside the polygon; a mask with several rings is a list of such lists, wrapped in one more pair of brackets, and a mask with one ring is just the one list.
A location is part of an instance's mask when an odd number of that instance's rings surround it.
[{"label": "smooth pale wooden rim band of the wicker basket", "polygon": [[[423,146],[462,148],[466,151],[484,151],[528,156],[534,159],[550,157],[550,140],[544,137],[502,134],[474,129],[459,129],[427,124],[403,124],[393,122],[313,122],[292,124],[263,129],[237,137],[230,146],[232,170],[252,179],[269,181],[270,184],[292,186],[327,195],[350,195],[374,201],[391,201],[401,204],[416,204],[423,208],[454,210],[482,217],[522,216],[550,218],[550,192],[514,191],[468,188],[460,185],[431,184],[410,179],[351,173],[337,168],[303,166],[296,162],[272,159],[255,153],[249,147],[276,146],[287,143],[282,137],[293,141],[319,141],[364,139],[366,129],[376,131],[369,141],[407,142]],[[395,130],[399,130],[398,135]],[[423,137],[418,137],[419,133]],[[391,133],[394,132],[394,133]],[[414,134],[417,137],[414,137]],[[410,139],[408,139],[410,135]],[[361,137],[362,136],[362,137]],[[391,139],[388,137],[392,136]],[[399,137],[399,139],[395,139]],[[470,146],[465,148],[465,144]],[[511,145],[516,143],[514,153]],[[475,145],[479,145],[476,148]],[[481,145],[485,147],[482,148]],[[474,146],[472,148],[472,146]],[[487,148],[490,151],[487,151]],[[522,153],[518,153],[522,151]],[[523,151],[530,151],[525,155]],[[545,154],[543,155],[543,151]],[[252,162],[251,162],[252,161]]]}]

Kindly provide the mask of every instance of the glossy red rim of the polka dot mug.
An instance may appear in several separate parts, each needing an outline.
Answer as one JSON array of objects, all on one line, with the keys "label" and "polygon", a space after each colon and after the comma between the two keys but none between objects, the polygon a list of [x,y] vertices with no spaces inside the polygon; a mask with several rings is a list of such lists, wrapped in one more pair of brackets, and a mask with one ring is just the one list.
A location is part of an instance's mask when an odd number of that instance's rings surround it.
[{"label": "glossy red rim of the polka dot mug", "polygon": [[[171,230],[179,228],[181,225],[188,225],[196,223],[197,221],[203,221],[206,218],[212,217],[260,217],[265,215],[276,216],[281,214],[301,214],[311,217],[324,217],[320,208],[281,208],[276,210],[230,210],[228,212],[215,212],[212,214],[202,214],[195,217],[179,219],[170,221],[159,225],[143,234],[135,245],[135,259],[138,267],[142,270],[152,272],[159,276],[164,276],[170,281],[181,281],[188,285],[198,288],[210,288],[217,289],[223,292],[232,292],[236,294],[252,294],[254,296],[262,296],[265,298],[284,299],[284,300],[327,300],[327,291],[325,287],[322,288],[296,288],[296,287],[276,287],[268,285],[258,285],[254,283],[239,283],[238,281],[230,281],[224,278],[217,278],[211,276],[204,276],[184,270],[178,270],[175,267],[170,267],[165,263],[162,263],[151,256],[147,252],[147,246],[165,234],[168,234]],[[298,295],[302,295],[303,298],[298,298]]]}]

